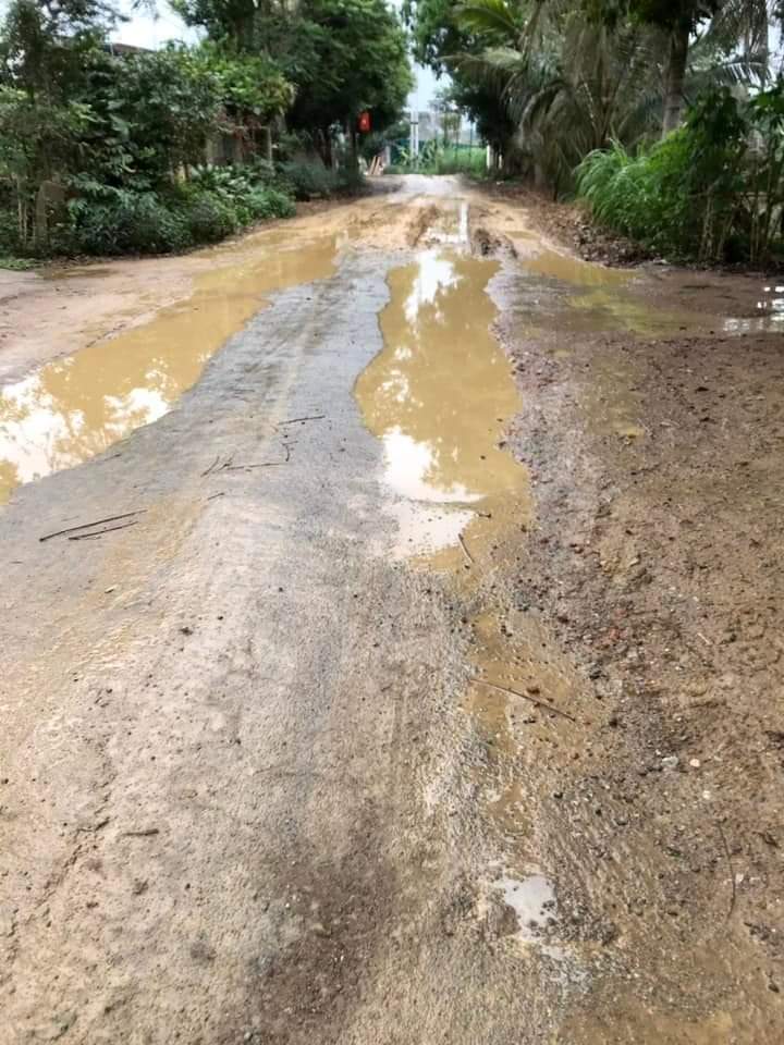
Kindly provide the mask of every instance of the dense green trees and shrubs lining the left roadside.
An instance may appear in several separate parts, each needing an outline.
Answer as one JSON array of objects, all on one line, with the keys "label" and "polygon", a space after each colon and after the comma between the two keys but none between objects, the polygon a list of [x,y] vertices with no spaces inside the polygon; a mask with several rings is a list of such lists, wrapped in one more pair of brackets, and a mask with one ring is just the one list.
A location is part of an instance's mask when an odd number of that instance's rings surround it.
[{"label": "dense green trees and shrubs lining the left roadside", "polygon": [[110,42],[102,0],[13,0],[0,30],[0,256],[161,254],[360,186],[356,121],[411,86],[384,0],[177,0],[196,47]]}]

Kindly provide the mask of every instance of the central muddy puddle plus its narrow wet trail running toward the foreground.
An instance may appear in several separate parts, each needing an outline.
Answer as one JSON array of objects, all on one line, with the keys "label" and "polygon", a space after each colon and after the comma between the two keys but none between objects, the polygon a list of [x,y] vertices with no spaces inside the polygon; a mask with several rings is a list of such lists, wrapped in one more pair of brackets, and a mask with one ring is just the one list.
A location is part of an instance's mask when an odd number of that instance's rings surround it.
[{"label": "central muddy puddle plus its narrow wet trail running toward the foreground", "polygon": [[495,260],[443,248],[393,270],[384,348],[355,394],[384,446],[382,485],[400,522],[393,553],[439,576],[466,639],[466,686],[455,698],[471,735],[458,753],[468,792],[450,848],[463,853],[470,921],[503,941],[504,961],[523,962],[531,982],[556,981],[561,997],[583,988],[585,959],[561,946],[529,767],[575,728],[580,694],[542,623],[510,605],[506,578],[530,500],[504,438],[520,402],[492,332],[488,286],[498,273]]}]

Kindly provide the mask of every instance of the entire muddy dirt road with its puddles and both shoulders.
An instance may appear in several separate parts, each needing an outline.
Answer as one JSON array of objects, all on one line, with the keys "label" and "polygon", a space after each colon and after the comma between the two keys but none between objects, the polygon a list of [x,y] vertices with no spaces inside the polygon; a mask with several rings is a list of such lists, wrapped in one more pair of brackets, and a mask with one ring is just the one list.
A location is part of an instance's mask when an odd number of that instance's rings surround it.
[{"label": "entire muddy dirt road with its puddles and both shoulders", "polygon": [[3,1045],[784,1037],[781,292],[537,206],[7,281]]}]

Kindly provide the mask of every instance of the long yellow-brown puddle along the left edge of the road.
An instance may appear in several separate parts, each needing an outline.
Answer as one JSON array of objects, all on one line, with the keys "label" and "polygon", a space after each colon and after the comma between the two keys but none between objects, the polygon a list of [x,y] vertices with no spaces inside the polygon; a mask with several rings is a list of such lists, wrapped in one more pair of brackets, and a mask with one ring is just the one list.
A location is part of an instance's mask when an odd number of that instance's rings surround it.
[{"label": "long yellow-brown puddle along the left edge of the road", "polygon": [[334,237],[289,250],[268,237],[241,261],[198,274],[193,295],[150,323],[0,389],[0,504],[21,483],[82,464],[169,413],[268,295],[331,275],[339,249]]}]

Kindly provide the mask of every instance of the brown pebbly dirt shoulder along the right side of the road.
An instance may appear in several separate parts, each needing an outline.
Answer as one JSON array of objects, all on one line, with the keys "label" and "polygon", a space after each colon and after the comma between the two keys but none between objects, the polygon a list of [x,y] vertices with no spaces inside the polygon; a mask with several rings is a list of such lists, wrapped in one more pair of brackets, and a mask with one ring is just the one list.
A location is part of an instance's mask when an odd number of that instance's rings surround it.
[{"label": "brown pebbly dirt shoulder along the right side of the road", "polygon": [[605,951],[569,1041],[779,1041],[781,337],[505,336],[537,515],[517,595],[586,693],[538,769],[542,849]]}]

